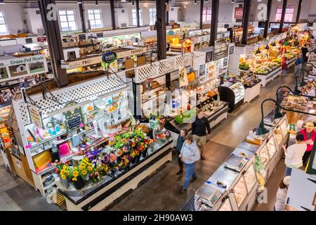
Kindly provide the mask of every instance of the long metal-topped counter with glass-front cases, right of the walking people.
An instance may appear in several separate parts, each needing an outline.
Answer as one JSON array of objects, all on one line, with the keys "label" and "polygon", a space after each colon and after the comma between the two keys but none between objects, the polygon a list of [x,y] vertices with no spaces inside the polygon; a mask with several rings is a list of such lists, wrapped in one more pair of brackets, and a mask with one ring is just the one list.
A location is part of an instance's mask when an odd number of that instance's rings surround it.
[{"label": "long metal-topped counter with glass-front cases, right of the walking people", "polygon": [[[270,113],[265,121],[271,121]],[[265,136],[254,136],[251,131],[225,162],[195,193],[195,210],[250,211],[254,207],[262,181],[268,181],[283,154],[287,143],[287,117],[275,121],[275,127]],[[260,141],[258,141],[260,140]],[[256,157],[262,167],[258,168]],[[263,172],[263,170],[265,172]],[[259,185],[260,184],[260,185]]]}]

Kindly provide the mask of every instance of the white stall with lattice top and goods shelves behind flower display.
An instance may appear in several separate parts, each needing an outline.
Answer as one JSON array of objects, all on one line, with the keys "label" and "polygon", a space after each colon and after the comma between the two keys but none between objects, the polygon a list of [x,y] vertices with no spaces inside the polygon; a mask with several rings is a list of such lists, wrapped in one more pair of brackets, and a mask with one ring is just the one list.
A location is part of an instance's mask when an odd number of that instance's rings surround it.
[{"label": "white stall with lattice top and goods shelves behind flower display", "polygon": [[44,195],[55,185],[55,160],[69,161],[123,130],[130,117],[126,89],[121,74],[53,91],[46,99],[14,98],[9,123],[27,182]]}]

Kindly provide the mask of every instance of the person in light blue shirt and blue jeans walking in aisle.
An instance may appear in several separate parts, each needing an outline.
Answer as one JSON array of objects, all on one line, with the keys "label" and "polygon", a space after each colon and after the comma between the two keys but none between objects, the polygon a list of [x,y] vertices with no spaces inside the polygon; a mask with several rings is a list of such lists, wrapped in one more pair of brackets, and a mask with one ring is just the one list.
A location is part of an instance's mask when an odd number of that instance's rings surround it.
[{"label": "person in light blue shirt and blue jeans walking in aisle", "polygon": [[195,165],[201,157],[197,143],[194,141],[192,135],[189,134],[185,137],[185,143],[183,143],[179,157],[185,163],[185,181],[180,190],[183,193],[187,191],[190,182],[192,183],[197,179]]}]

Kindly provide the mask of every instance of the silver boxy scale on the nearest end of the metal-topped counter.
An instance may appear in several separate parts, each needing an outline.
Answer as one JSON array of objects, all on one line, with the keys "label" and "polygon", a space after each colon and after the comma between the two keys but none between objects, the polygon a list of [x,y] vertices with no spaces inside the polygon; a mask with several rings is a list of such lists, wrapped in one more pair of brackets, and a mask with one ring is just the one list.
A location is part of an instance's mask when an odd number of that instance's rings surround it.
[{"label": "silver boxy scale on the nearest end of the metal-topped counter", "polygon": [[213,207],[220,199],[222,194],[219,188],[214,184],[204,183],[196,192],[195,198],[201,198],[202,202]]}]

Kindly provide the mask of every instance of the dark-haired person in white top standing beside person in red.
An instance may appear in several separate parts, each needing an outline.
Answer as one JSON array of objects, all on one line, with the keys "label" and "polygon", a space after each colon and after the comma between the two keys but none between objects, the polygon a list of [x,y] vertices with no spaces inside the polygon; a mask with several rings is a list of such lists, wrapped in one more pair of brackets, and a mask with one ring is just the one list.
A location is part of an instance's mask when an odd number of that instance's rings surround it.
[{"label": "dark-haired person in white top standing beside person in red", "polygon": [[304,142],[304,136],[301,133],[296,134],[296,143],[289,146],[287,149],[282,146],[285,154],[285,176],[291,176],[293,168],[299,168],[303,166],[303,155],[307,149],[307,145]]}]

